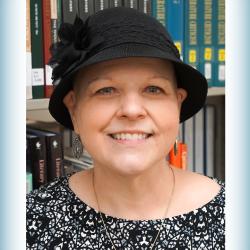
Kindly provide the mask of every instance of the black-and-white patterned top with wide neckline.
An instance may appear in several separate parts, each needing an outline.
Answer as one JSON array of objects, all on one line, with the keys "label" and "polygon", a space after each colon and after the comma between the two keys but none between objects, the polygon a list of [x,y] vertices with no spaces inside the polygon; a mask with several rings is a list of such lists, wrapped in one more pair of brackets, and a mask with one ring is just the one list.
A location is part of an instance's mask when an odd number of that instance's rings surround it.
[{"label": "black-and-white patterned top with wide neckline", "polygon": [[[210,177],[212,178],[212,177]],[[98,211],[69,188],[67,177],[27,196],[27,249],[113,249]],[[154,249],[225,249],[225,183],[207,204],[164,219]],[[161,220],[127,220],[102,214],[119,250],[150,249]]]}]

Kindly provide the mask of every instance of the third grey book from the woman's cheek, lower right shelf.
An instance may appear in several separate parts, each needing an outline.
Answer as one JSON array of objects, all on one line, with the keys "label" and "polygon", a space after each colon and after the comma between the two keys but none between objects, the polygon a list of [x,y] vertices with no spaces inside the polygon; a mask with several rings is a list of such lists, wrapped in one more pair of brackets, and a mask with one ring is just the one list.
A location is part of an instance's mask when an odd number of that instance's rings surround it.
[{"label": "third grey book from the woman's cheek, lower right shelf", "polygon": [[215,174],[215,106],[205,107],[205,174]]}]

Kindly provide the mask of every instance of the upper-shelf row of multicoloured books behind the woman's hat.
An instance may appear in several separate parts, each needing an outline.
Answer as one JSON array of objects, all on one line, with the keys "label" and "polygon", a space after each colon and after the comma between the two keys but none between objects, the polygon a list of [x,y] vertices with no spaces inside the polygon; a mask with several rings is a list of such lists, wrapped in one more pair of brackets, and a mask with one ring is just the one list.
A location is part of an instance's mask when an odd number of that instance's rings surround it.
[{"label": "upper-shelf row of multicoloured books behind the woman's hat", "polygon": [[158,19],[209,86],[225,85],[225,0],[26,0],[27,99],[50,97],[53,91],[49,47],[58,41],[60,24],[118,6]]}]

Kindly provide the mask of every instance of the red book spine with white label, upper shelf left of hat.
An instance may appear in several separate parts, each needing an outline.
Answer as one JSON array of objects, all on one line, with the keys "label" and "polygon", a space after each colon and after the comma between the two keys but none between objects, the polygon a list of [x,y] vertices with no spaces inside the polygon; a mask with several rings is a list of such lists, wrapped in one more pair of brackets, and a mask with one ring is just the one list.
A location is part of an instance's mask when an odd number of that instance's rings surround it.
[{"label": "red book spine with white label, upper shelf left of hat", "polygon": [[[52,13],[51,2],[53,0],[43,0],[43,54],[44,54],[44,70],[45,70],[45,81],[44,81],[44,97],[49,98],[53,91],[52,85],[52,68],[48,65],[49,59],[51,57],[50,54],[50,46],[51,46],[51,24],[52,24]],[[54,9],[53,9],[54,11]],[[53,13],[54,15],[55,13]]]}]

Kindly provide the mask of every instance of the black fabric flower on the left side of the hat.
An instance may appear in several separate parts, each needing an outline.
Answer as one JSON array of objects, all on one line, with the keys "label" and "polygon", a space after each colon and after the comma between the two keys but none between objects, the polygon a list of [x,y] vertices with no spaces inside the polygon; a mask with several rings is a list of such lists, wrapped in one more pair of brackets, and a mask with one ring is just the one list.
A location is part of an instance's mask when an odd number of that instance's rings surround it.
[{"label": "black fabric flower on the left side of the hat", "polygon": [[53,68],[52,79],[56,80],[70,73],[88,58],[88,54],[104,42],[100,35],[90,36],[89,18],[85,22],[78,16],[74,24],[62,23],[58,30],[59,42],[50,47],[49,65]]}]

